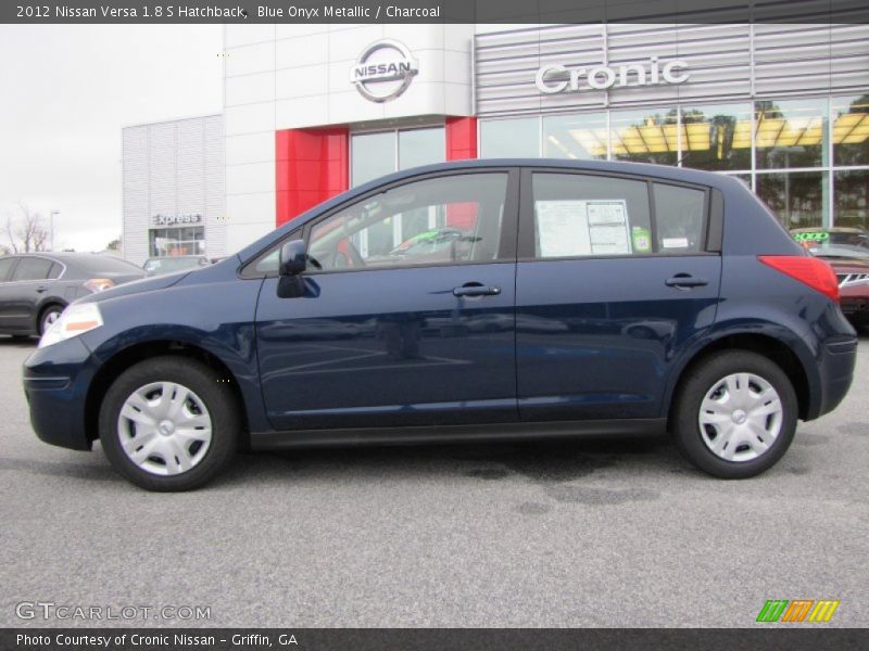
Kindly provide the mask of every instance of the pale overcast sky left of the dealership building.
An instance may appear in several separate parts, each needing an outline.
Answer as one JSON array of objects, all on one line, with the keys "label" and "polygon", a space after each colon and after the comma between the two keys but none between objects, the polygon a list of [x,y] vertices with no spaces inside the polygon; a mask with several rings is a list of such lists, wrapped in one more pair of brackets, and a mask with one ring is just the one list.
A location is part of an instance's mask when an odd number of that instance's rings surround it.
[{"label": "pale overcast sky left of the dealership building", "polygon": [[222,49],[222,25],[0,25],[0,228],[21,202],[60,212],[56,250],[105,248],[122,127],[219,113]]}]

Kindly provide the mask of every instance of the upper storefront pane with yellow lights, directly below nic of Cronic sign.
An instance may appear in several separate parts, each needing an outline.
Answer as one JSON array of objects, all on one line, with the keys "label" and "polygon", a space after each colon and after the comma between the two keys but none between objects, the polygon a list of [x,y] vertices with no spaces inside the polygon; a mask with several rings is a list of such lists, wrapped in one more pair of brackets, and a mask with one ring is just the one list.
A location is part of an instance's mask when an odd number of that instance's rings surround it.
[{"label": "upper storefront pane with yellow lights, directly below nic of Cronic sign", "polygon": [[679,161],[677,110],[613,111],[609,146],[613,161],[676,165]]}]

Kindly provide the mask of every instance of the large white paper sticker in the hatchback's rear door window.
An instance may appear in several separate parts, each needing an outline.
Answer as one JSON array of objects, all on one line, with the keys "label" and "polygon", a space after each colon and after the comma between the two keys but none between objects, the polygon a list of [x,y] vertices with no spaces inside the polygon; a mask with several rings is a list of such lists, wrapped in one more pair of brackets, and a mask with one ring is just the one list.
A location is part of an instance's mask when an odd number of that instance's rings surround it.
[{"label": "large white paper sticker in the hatchback's rear door window", "polygon": [[539,201],[536,214],[540,257],[631,253],[625,200]]}]

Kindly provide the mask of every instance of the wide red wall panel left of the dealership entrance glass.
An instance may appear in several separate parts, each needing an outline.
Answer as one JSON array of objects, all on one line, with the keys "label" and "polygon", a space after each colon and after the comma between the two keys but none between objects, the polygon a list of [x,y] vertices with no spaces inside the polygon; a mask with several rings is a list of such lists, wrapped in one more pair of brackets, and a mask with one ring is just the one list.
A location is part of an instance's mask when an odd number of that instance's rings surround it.
[{"label": "wide red wall panel left of the dealership entrance glass", "polygon": [[348,127],[275,131],[276,226],[349,188]]}]

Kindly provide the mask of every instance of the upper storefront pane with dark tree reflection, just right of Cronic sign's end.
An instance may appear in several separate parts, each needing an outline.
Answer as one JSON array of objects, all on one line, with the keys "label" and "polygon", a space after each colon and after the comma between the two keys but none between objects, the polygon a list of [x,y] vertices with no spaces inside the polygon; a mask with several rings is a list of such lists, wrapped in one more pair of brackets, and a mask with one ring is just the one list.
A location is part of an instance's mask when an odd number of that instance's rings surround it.
[{"label": "upper storefront pane with dark tree reflection, just right of Cronic sign's end", "polygon": [[751,104],[683,106],[681,111],[684,167],[715,171],[752,168]]}]

